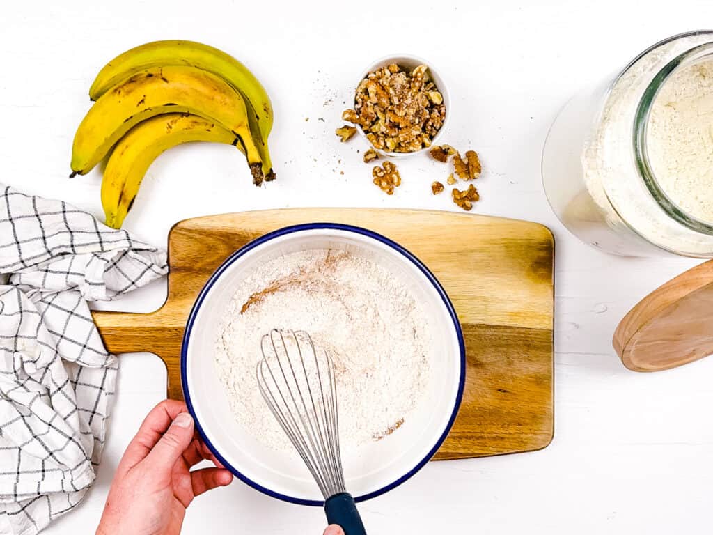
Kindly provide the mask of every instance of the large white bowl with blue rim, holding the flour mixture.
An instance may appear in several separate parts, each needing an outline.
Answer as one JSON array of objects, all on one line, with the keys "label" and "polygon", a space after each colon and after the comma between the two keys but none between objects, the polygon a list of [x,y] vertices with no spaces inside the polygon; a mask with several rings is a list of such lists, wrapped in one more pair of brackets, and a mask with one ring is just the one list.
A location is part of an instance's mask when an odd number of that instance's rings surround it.
[{"label": "large white bowl with blue rim, holding the flour mixture", "polygon": [[[185,402],[205,444],[238,478],[275,498],[321,506],[317,484],[296,453],[265,447],[253,430],[238,424],[214,357],[221,316],[241,280],[274,258],[315,248],[366,255],[391,271],[413,292],[432,330],[428,392],[398,432],[342,455],[347,490],[356,501],[393,489],[431,459],[456,418],[466,372],[463,335],[446,292],[414,255],[384,236],[349,225],[311,223],[277,230],[233,253],[210,277],[188,318],[180,363]],[[246,387],[252,379],[246,378]]]}]

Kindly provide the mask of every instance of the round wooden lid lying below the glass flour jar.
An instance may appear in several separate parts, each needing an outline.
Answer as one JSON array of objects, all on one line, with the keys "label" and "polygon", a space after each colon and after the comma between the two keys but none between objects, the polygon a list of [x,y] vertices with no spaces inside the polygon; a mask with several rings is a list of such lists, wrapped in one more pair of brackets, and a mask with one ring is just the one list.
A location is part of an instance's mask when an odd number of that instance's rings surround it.
[{"label": "round wooden lid lying below the glass flour jar", "polygon": [[635,372],[656,372],[713,354],[713,260],[659,287],[614,333],[614,349]]}]

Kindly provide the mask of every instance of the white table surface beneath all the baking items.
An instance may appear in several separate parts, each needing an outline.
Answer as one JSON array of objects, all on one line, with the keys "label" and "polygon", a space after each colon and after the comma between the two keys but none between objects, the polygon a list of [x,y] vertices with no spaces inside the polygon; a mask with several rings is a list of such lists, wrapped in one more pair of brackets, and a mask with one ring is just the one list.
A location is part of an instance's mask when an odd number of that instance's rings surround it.
[{"label": "white table surface beneath all the baking items", "polygon": [[[176,221],[211,213],[310,205],[455,210],[447,195],[429,194],[431,181],[443,178],[437,163],[400,164],[404,185],[387,198],[356,154],[364,144],[339,145],[332,133],[366,64],[398,51],[424,56],[453,98],[444,141],[482,156],[483,200],[474,212],[538,221],[555,233],[555,438],[540,452],[429,464],[361,506],[369,532],[707,531],[713,359],[637,374],[622,367],[610,343],[632,305],[696,262],[615,258],[580,243],[550,211],[540,152],[555,113],[575,91],[659,39],[710,25],[713,4],[474,4],[125,0],[110,9],[96,1],[6,2],[0,180],[101,215],[101,175],[67,178],[93,76],[131,46],[183,38],[234,54],[262,80],[277,113],[270,146],[278,180],[254,188],[240,154],[228,147],[176,148],[150,169],[126,228],[162,245]],[[148,311],[164,295],[160,282],[114,306]],[[125,445],[165,396],[157,357],[121,361],[96,484],[48,534],[89,533],[96,526]],[[323,528],[320,511],[283,504],[236,481],[196,499],[183,533],[321,535]]]}]

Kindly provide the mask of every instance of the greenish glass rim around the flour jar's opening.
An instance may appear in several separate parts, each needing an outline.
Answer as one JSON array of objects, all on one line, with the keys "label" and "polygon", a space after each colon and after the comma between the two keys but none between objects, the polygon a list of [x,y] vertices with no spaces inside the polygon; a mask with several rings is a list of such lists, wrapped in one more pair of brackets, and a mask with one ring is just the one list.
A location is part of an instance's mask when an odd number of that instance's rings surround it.
[{"label": "greenish glass rim around the flour jar's opening", "polygon": [[677,221],[677,223],[686,226],[690,230],[694,230],[694,232],[697,233],[713,235],[713,223],[700,220],[699,218],[687,213],[676,203],[674,203],[665,193],[652,169],[647,149],[647,130],[649,118],[658,93],[661,91],[662,87],[669,80],[669,78],[677,72],[679,68],[685,66],[689,61],[695,61],[706,56],[713,56],[713,31],[693,31],[665,39],[665,41],[661,41],[660,43],[650,47],[650,49],[647,49],[647,51],[640,56],[637,56],[637,59],[632,61],[632,63],[630,63],[630,65],[627,66],[623,72],[626,72],[627,69],[638,60],[638,58],[647,54],[648,51],[661,46],[662,44],[666,44],[674,39],[698,36],[702,34],[709,34],[712,37],[712,40],[709,43],[693,46],[687,51],[684,51],[674,57],[666,63],[666,65],[655,74],[650,83],[648,83],[636,109],[632,131],[632,141],[636,168],[647,190],[649,190],[649,193],[652,195],[660,208],[662,208],[662,210],[664,210],[670,218]]}]

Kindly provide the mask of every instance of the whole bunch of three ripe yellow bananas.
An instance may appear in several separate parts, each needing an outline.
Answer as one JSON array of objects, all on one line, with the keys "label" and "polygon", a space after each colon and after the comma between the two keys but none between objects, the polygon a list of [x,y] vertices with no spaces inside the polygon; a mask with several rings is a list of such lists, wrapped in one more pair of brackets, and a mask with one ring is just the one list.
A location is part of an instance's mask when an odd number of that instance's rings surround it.
[{"label": "whole bunch of three ripe yellow bananas", "polygon": [[123,223],[153,160],[180,143],[232,143],[245,154],[256,185],[275,178],[267,148],[270,98],[242,63],[212,46],[138,46],[99,72],[89,96],[96,103],[74,137],[72,176],[111,153],[101,199],[113,228]]}]

